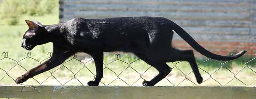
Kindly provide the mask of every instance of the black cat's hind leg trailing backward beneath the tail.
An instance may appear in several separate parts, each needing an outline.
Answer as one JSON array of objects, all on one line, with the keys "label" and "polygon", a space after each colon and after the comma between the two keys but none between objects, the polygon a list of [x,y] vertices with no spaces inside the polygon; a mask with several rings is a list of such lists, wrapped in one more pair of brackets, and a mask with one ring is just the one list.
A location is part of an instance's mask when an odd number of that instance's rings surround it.
[{"label": "black cat's hind leg trailing backward beneath the tail", "polygon": [[193,70],[193,73],[196,76],[197,83],[200,84],[203,82],[203,78],[202,78],[202,76],[198,70],[197,64],[196,64],[196,59],[195,59],[193,50],[181,51],[181,50],[173,49],[173,51],[169,55],[170,55],[169,61],[167,61],[167,62],[187,61],[190,64],[190,66]]}]

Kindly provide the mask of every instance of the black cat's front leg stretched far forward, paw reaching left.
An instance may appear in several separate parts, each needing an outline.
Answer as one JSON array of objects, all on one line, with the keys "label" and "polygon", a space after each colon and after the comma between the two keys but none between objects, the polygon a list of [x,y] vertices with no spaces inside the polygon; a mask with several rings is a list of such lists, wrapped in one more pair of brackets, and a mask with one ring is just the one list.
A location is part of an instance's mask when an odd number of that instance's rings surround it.
[{"label": "black cat's front leg stretched far forward, paw reaching left", "polygon": [[39,66],[29,70],[22,76],[18,77],[15,80],[15,83],[23,83],[27,79],[32,78],[35,75],[41,74],[42,72],[48,71],[56,66],[59,66],[61,63],[63,63],[67,58],[69,58],[71,55],[75,54],[75,51],[67,51],[67,50],[57,50],[55,48],[53,51],[53,55],[49,60],[46,60],[44,63],[40,64]]}]

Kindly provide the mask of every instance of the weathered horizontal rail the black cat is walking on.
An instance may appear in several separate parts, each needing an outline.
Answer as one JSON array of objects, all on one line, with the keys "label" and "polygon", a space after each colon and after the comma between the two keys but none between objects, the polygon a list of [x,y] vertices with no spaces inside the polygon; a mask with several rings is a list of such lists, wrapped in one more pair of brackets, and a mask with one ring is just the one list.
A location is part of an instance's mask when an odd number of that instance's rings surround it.
[{"label": "weathered horizontal rail the black cat is walking on", "polygon": [[[33,89],[34,88],[34,89]],[[0,86],[0,98],[255,99],[256,87]]]}]

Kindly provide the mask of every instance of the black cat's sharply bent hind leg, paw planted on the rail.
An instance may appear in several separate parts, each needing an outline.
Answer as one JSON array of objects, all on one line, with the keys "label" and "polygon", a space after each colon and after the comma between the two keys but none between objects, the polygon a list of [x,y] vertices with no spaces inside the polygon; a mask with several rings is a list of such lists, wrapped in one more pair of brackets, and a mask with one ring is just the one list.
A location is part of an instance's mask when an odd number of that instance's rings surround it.
[{"label": "black cat's sharply bent hind leg, paw planted on the rail", "polygon": [[164,62],[158,63],[158,62],[154,62],[153,60],[148,59],[145,55],[140,55],[140,54],[136,54],[136,55],[140,59],[142,59],[144,62],[146,62],[147,64],[156,68],[159,72],[159,74],[157,76],[155,76],[153,79],[151,79],[150,81],[144,80],[144,82],[142,82],[143,86],[154,86],[155,84],[157,84],[160,80],[165,78],[172,71],[172,68],[170,68]]}]

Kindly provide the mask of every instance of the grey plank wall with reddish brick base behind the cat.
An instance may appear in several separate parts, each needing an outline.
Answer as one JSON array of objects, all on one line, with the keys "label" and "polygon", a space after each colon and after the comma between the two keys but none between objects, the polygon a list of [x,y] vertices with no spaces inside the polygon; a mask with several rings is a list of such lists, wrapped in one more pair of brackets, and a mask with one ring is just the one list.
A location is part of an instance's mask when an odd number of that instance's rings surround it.
[{"label": "grey plank wall with reddish brick base behind the cat", "polygon": [[[123,16],[166,17],[217,54],[256,53],[256,0],[60,0],[60,22]],[[173,44],[192,49],[178,35]]]}]

